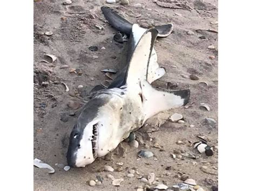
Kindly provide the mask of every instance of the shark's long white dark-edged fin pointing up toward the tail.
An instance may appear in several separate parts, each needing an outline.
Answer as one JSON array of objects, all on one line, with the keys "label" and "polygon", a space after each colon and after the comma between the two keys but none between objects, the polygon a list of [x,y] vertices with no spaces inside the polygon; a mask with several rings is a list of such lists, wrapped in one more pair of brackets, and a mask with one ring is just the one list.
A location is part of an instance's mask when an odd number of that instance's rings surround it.
[{"label": "shark's long white dark-edged fin pointing up toward the tail", "polygon": [[140,81],[147,80],[147,69],[152,53],[154,41],[157,38],[156,29],[148,29],[139,39],[136,47],[133,49],[128,61],[128,68],[125,76],[127,87],[140,87]]}]

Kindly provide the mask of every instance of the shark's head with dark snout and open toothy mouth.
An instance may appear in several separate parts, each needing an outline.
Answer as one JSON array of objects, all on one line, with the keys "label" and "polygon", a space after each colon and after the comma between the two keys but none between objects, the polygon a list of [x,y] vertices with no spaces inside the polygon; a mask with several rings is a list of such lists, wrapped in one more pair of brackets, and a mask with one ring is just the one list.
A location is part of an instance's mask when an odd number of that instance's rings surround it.
[{"label": "shark's head with dark snout and open toothy mouth", "polygon": [[90,100],[79,115],[70,134],[69,166],[85,167],[118,145],[118,112],[107,96]]}]

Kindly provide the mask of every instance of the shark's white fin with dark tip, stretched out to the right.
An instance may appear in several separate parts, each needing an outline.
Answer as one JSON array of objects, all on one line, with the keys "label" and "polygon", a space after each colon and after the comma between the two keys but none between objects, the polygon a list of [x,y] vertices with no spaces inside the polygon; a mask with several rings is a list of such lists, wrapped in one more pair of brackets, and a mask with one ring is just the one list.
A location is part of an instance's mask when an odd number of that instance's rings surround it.
[{"label": "shark's white fin with dark tip, stretched out to the right", "polygon": [[158,114],[160,111],[178,108],[188,103],[190,90],[177,90],[164,92],[154,89],[149,82],[141,82],[143,96],[143,114],[145,116],[143,123],[150,117]]}]

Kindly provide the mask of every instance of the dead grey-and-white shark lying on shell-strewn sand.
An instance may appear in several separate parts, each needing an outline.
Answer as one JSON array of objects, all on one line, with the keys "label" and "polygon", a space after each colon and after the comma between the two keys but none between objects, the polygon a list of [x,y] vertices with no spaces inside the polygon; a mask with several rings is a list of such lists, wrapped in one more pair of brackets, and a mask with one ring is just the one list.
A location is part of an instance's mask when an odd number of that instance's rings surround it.
[{"label": "dead grey-and-white shark lying on shell-strewn sand", "polygon": [[84,105],[70,135],[66,157],[71,167],[91,164],[113,151],[147,119],[160,111],[181,107],[190,98],[189,89],[165,92],[151,86],[165,73],[153,48],[161,30],[143,29],[137,24],[129,28],[130,24],[112,9],[102,10],[111,25],[123,26],[118,30],[130,36],[127,65],[107,89],[97,91]]}]

